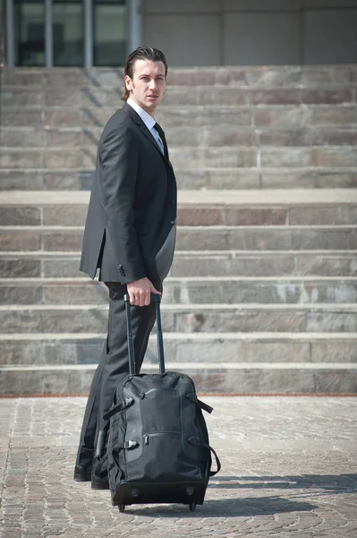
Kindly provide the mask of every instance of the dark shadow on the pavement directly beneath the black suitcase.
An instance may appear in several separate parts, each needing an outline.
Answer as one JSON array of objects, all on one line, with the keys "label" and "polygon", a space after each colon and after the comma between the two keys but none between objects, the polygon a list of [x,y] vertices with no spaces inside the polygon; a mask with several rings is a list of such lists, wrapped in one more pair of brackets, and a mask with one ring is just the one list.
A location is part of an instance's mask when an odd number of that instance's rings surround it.
[{"label": "dark shadow on the pavement directly beneath the black suitcase", "polygon": [[309,502],[282,499],[281,497],[247,497],[242,499],[206,499],[203,506],[191,512],[187,505],[128,506],[125,513],[135,516],[160,517],[251,517],[273,516],[285,512],[307,512],[317,508]]}]

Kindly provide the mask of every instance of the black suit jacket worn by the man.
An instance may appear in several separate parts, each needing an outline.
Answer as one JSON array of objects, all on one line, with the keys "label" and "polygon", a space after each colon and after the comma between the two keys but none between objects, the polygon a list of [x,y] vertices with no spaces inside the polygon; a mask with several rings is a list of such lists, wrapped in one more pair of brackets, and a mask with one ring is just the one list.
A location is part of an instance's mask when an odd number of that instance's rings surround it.
[{"label": "black suit jacket worn by the man", "polygon": [[166,277],[174,256],[174,170],[147,126],[125,103],[100,137],[80,269],[99,280]]}]

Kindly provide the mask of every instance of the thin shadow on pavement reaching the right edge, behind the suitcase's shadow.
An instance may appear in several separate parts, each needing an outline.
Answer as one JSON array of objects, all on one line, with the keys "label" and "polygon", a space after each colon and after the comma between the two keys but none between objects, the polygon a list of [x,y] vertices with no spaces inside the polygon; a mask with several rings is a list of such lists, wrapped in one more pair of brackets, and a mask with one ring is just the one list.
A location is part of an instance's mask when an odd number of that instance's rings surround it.
[{"label": "thin shadow on pavement reaching the right edge, behind the suitcase's shadow", "polygon": [[302,474],[300,476],[217,476],[210,488],[301,489],[319,488],[334,492],[357,490],[357,474]]}]

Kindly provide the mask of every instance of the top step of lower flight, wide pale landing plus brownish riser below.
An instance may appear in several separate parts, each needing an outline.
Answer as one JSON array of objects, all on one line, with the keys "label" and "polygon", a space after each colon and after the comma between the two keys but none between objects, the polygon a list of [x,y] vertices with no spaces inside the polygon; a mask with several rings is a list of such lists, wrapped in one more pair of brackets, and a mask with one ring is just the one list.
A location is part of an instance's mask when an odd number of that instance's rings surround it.
[{"label": "top step of lower flight, wide pale landing plus brownish riser below", "polygon": [[[89,193],[0,192],[0,226],[84,226]],[[357,223],[354,190],[179,191],[181,226],[340,226]]]}]

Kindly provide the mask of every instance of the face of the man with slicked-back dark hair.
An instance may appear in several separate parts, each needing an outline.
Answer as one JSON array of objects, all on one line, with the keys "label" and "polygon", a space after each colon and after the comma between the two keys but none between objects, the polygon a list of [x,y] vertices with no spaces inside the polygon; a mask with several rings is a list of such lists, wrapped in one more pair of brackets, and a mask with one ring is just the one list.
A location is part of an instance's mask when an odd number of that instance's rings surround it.
[{"label": "face of the man with slicked-back dark hair", "polygon": [[166,88],[165,65],[151,60],[136,60],[132,79],[125,75],[125,85],[130,98],[152,117]]}]

